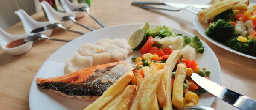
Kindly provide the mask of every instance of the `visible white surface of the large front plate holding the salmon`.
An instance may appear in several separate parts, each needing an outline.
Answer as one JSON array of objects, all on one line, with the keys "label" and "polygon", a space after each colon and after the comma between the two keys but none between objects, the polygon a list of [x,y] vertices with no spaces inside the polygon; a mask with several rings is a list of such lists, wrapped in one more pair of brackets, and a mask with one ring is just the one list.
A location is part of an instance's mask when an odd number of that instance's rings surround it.
[{"label": "visible white surface of the large front plate holding the salmon", "polygon": [[[29,93],[29,107],[31,110],[81,110],[86,107],[93,100],[79,100],[79,99],[69,99],[67,97],[58,95],[49,90],[43,90],[38,88],[35,79],[38,77],[56,77],[62,76],[64,74],[65,59],[72,58],[74,52],[78,49],[81,44],[92,43],[95,44],[96,41],[102,38],[125,38],[127,41],[135,30],[139,29],[144,24],[128,24],[128,25],[117,25],[112,27],[107,27],[104,29],[96,30],[80,36],[73,41],[65,44],[63,47],[54,52],[46,62],[38,70],[35,78],[32,82],[30,93]],[[157,25],[150,25],[151,28]],[[168,25],[167,25],[168,26]],[[170,27],[170,26],[169,26]],[[182,30],[174,29],[175,33],[181,33],[192,38],[194,35],[187,33]],[[203,42],[205,51],[203,54],[197,54],[196,61],[198,65],[202,67],[209,67],[212,74],[209,77],[210,80],[216,83],[220,83],[221,80],[221,68],[218,59],[211,48]],[[128,55],[125,59],[128,63],[131,63],[131,57],[137,55],[140,56],[140,52],[133,52]],[[134,64],[133,64],[134,65]],[[199,97],[198,105],[210,107],[215,97],[210,93],[203,93]]]}]

